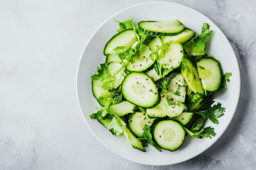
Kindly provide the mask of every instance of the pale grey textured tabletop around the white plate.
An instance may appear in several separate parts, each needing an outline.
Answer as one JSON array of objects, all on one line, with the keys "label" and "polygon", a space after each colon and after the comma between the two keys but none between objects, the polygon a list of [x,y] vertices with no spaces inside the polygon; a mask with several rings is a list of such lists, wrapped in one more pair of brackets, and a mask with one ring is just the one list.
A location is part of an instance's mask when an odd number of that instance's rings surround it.
[{"label": "pale grey textured tabletop around the white plate", "polygon": [[88,38],[110,15],[143,0],[0,0],[0,170],[256,169],[256,2],[173,0],[206,15],[239,62],[236,114],[201,155],[144,166],[102,146],[88,130],[75,93]]}]

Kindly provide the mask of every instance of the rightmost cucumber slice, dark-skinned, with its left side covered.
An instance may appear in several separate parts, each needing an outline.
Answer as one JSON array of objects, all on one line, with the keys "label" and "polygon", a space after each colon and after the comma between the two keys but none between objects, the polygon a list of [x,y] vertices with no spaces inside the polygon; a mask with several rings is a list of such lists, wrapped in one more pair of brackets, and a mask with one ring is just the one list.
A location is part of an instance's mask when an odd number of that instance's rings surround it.
[{"label": "rightmost cucumber slice, dark-skinned, with its left side covered", "polygon": [[202,57],[196,62],[205,95],[220,88],[222,74],[220,63],[213,57]]}]

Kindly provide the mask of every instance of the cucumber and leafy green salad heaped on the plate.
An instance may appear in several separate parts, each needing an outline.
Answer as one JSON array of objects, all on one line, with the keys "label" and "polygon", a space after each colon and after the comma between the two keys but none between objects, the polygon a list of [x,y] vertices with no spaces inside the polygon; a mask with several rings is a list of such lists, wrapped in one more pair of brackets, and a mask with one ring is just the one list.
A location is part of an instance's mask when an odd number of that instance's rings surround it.
[{"label": "cucumber and leafy green salad heaped on the plate", "polygon": [[231,73],[205,52],[212,31],[200,34],[178,20],[119,23],[106,43],[92,78],[92,93],[102,108],[90,115],[113,135],[126,137],[133,148],[175,151],[185,136],[212,138],[225,108],[214,93],[227,88]]}]

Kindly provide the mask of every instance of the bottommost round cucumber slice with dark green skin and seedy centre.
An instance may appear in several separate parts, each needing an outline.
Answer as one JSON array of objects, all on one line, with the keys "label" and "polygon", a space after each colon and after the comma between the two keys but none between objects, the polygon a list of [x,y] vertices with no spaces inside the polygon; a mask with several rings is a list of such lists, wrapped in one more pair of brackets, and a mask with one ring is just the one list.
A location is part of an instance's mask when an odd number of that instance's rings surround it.
[{"label": "bottommost round cucumber slice with dark green skin and seedy centre", "polygon": [[163,149],[175,151],[182,146],[186,132],[175,120],[159,121],[153,128],[153,137]]}]

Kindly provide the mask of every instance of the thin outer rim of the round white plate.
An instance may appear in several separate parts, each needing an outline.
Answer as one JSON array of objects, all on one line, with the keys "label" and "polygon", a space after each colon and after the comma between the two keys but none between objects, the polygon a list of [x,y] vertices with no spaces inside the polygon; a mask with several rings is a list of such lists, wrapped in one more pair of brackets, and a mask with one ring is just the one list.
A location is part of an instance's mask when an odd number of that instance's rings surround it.
[{"label": "thin outer rim of the round white plate", "polygon": [[[76,84],[75,84],[75,86],[76,86],[76,99],[77,99],[77,102],[78,102],[78,105],[79,105],[80,113],[81,113],[81,115],[82,115],[82,117],[83,117],[83,119],[84,119],[84,121],[85,121],[87,127],[89,128],[90,132],[94,135],[94,137],[95,137],[104,147],[108,148],[108,150],[110,150],[112,153],[115,153],[115,152],[112,151],[108,146],[106,146],[106,145],[104,144],[104,142],[101,141],[101,140],[97,137],[97,135],[92,131],[92,129],[91,129],[90,126],[88,125],[87,120],[85,119],[85,115],[83,114],[83,110],[82,110],[82,108],[81,108],[81,104],[80,104],[81,102],[80,102],[79,93],[78,93],[78,79],[79,79],[78,77],[79,77],[79,69],[80,69],[80,67],[81,67],[81,60],[82,60],[83,55],[84,55],[84,53],[85,53],[85,51],[86,51],[86,49],[87,49],[87,47],[88,47],[88,44],[90,44],[90,42],[92,41],[94,35],[95,35],[95,34],[97,33],[97,31],[101,28],[101,26],[103,26],[103,25],[104,25],[106,22],[108,22],[111,18],[113,18],[114,16],[118,15],[118,14],[121,13],[122,11],[125,11],[125,10],[127,10],[127,9],[129,9],[129,8],[132,8],[132,7],[135,7],[135,6],[138,6],[138,5],[150,4],[150,3],[152,3],[152,4],[154,4],[154,3],[170,3],[170,4],[175,4],[175,5],[178,5],[178,6],[180,5],[180,6],[182,6],[182,7],[189,8],[189,9],[191,9],[192,11],[194,11],[195,13],[198,13],[199,15],[202,15],[202,16],[204,16],[205,18],[207,18],[208,20],[210,20],[207,16],[205,16],[205,15],[202,14],[202,13],[200,13],[199,11],[197,11],[197,10],[191,8],[191,7],[188,7],[188,6],[186,6],[186,5],[183,5],[183,4],[179,4],[179,3],[175,3],[175,2],[168,2],[168,1],[149,1],[149,2],[141,2],[141,3],[133,4],[133,5],[129,6],[129,7],[126,7],[126,8],[124,8],[124,9],[121,9],[120,11],[117,11],[116,13],[114,13],[113,15],[111,15],[110,17],[108,17],[102,24],[100,24],[100,25],[98,26],[98,28],[92,33],[92,35],[90,36],[90,38],[88,39],[87,43],[85,44],[85,46],[84,46],[84,48],[83,48],[83,51],[82,51],[82,53],[81,53],[81,55],[80,55],[79,62],[78,62],[78,66],[77,66],[77,69],[76,69]],[[220,30],[220,28],[219,28],[212,20],[210,20],[210,21],[216,26],[216,28],[218,29],[218,31],[220,31],[220,33],[222,33],[222,35],[225,37],[225,39],[227,40],[227,42],[229,42],[229,40],[227,39],[227,37],[225,36],[225,34]],[[228,44],[229,44],[229,46],[230,46],[231,49],[232,49],[233,55],[236,56],[236,53],[234,52],[234,49],[233,49],[233,47],[231,46],[230,42],[229,42]],[[166,165],[173,165],[173,164],[176,164],[176,163],[181,163],[181,162],[184,162],[184,161],[188,161],[189,159],[192,159],[192,158],[194,158],[194,157],[200,155],[202,152],[206,151],[208,148],[210,148],[211,146],[213,146],[213,144],[215,144],[215,142],[218,141],[218,139],[223,135],[223,133],[226,131],[227,127],[229,126],[231,120],[233,119],[233,117],[234,117],[234,115],[235,115],[235,113],[236,113],[236,109],[237,109],[238,102],[239,102],[239,99],[240,99],[240,88],[241,88],[241,87],[240,87],[240,85],[241,85],[240,68],[239,68],[238,61],[237,61],[237,60],[235,61],[235,63],[236,63],[236,66],[237,66],[237,68],[238,68],[238,82],[239,82],[238,88],[239,88],[239,91],[238,91],[238,97],[237,97],[237,99],[236,99],[236,104],[235,104],[235,107],[234,107],[234,112],[232,113],[232,116],[231,116],[229,122],[227,123],[227,126],[224,128],[224,130],[222,130],[222,132],[220,133],[220,135],[215,139],[215,141],[213,141],[212,144],[210,144],[210,145],[207,146],[204,150],[198,152],[198,153],[197,153],[196,155],[194,155],[194,156],[191,156],[191,157],[189,157],[189,158],[187,158],[187,159],[185,159],[185,160],[182,160],[182,161],[175,161],[174,163],[171,163],[171,164],[170,164],[170,163],[165,163],[165,164],[161,163],[161,164],[157,164],[157,165],[156,165],[156,164],[146,164],[146,163],[141,163],[141,162],[139,162],[139,161],[134,161],[134,160],[128,159],[128,158],[123,157],[122,155],[119,155],[119,154],[117,154],[117,153],[115,153],[115,154],[118,155],[118,156],[120,156],[120,157],[122,157],[122,158],[124,158],[124,159],[127,159],[127,160],[129,160],[129,161],[132,161],[132,162],[135,162],[135,163],[140,163],[140,164],[143,164],[143,165],[166,166]]]}]

